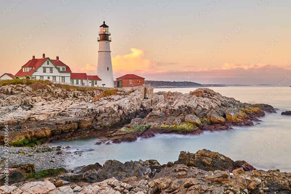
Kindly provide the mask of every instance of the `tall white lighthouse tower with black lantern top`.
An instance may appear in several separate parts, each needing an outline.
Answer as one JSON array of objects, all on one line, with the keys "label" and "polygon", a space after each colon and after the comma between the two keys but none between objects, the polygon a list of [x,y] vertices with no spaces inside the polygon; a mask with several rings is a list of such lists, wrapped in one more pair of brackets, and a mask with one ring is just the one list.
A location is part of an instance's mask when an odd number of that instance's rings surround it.
[{"label": "tall white lighthouse tower with black lantern top", "polygon": [[105,22],[100,26],[97,75],[102,79],[101,84],[105,84],[104,87],[114,88],[109,37],[111,34],[108,27]]}]

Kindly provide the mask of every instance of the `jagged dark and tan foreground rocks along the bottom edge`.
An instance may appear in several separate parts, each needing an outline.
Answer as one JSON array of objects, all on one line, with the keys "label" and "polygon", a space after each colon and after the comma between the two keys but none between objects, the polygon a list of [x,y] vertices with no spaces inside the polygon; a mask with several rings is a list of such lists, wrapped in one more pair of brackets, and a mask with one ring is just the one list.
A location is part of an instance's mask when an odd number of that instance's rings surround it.
[{"label": "jagged dark and tan foreground rocks along the bottom edge", "polygon": [[[156,160],[108,160],[68,169],[34,173],[34,164],[9,169],[9,186],[1,194],[288,194],[291,173],[257,170],[246,161],[233,161],[210,150],[181,152],[177,161],[161,165]],[[33,175],[33,176],[32,176]],[[3,184],[3,169],[0,168]]]}]

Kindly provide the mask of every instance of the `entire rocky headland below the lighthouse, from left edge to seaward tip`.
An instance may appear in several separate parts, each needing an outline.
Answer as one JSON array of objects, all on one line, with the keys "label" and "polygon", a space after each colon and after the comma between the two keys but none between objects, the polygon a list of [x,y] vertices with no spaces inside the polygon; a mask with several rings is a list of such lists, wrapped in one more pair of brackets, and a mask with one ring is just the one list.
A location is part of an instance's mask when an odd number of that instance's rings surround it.
[{"label": "entire rocky headland below the lighthouse, from left edge to seaward tip", "polygon": [[[152,87],[143,87],[97,102],[92,99],[98,90],[81,92],[54,85],[42,90],[2,86],[0,91],[0,127],[9,125],[10,145],[14,146],[87,136],[120,143],[156,133],[200,134],[252,125],[265,110],[272,111],[270,106],[241,103],[207,88],[190,94],[154,94]],[[3,142],[4,131],[0,131]]]}]

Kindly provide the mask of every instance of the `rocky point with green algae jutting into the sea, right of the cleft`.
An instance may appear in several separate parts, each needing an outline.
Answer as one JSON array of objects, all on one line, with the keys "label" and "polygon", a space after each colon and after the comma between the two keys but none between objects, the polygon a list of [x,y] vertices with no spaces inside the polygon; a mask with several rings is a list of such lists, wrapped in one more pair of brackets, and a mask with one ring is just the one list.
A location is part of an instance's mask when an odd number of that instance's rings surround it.
[{"label": "rocky point with green algae jutting into the sea, right of the cleft", "polygon": [[190,94],[157,92],[154,95],[159,102],[144,119],[133,119],[118,131],[102,135],[100,142],[130,142],[139,136],[149,138],[157,133],[201,134],[204,130],[229,130],[233,125],[253,125],[252,121],[258,121],[265,115],[264,111],[274,111],[272,106],[241,103],[208,88],[198,88]]}]

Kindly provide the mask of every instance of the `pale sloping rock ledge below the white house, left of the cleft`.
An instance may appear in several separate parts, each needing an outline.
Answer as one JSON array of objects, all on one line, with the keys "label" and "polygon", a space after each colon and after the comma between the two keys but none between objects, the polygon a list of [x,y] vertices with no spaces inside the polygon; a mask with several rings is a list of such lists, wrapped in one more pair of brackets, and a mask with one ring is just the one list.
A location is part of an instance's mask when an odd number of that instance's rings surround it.
[{"label": "pale sloping rock ledge below the white house, left of the cleft", "polygon": [[[100,135],[130,122],[157,104],[152,87],[142,87],[126,95],[92,99],[100,92],[77,91],[47,85],[43,90],[29,86],[2,86],[0,127],[9,126],[11,146],[44,143]],[[13,94],[13,95],[12,95]],[[0,143],[5,139],[0,131]]]}]

